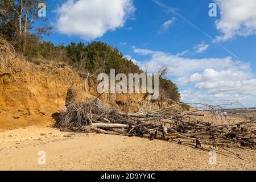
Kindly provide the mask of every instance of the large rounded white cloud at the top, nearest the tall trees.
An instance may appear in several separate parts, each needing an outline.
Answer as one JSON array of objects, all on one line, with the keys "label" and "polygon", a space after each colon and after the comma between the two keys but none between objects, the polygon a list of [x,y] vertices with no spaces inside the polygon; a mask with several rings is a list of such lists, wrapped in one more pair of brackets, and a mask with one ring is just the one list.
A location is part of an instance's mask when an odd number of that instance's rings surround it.
[{"label": "large rounded white cloud at the top, nearest the tall trees", "polygon": [[57,30],[91,40],[123,27],[135,11],[133,0],[68,0],[56,10]]}]

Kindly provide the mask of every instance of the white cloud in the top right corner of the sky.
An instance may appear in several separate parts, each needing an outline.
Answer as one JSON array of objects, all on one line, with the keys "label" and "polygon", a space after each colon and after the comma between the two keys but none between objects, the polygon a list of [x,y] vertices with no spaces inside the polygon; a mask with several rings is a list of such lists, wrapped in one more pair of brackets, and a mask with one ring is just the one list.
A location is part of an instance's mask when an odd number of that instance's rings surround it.
[{"label": "white cloud in the top right corner of the sky", "polygon": [[225,41],[235,35],[256,34],[255,0],[214,0],[221,11],[221,19],[216,22],[217,30],[222,32],[216,41]]}]

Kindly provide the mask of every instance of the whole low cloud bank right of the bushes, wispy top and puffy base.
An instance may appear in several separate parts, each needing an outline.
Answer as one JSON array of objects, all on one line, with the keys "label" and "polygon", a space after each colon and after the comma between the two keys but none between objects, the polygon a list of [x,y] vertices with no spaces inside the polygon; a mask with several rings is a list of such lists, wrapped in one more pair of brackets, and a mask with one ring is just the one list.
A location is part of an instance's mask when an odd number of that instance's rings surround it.
[{"label": "whole low cloud bank right of the bushes, wispy top and puffy base", "polygon": [[136,62],[142,69],[152,73],[160,65],[167,65],[172,80],[179,86],[190,87],[181,92],[181,100],[185,102],[240,101],[250,106],[256,102],[256,78],[248,63],[231,57],[189,59],[168,52],[133,49],[135,53],[150,56]]}]

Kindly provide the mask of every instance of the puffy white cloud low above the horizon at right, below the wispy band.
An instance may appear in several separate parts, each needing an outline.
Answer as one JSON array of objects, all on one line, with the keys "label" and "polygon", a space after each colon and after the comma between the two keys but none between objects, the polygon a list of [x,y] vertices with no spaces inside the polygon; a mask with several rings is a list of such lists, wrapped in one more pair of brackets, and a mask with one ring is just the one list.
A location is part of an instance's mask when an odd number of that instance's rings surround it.
[{"label": "puffy white cloud low above the horizon at right, below the wispy band", "polygon": [[[182,92],[183,99],[208,101],[255,101],[256,79],[254,74],[245,71],[205,69],[203,73],[194,73],[190,77],[179,78],[183,84],[195,83],[193,89],[207,91],[207,94]],[[198,100],[197,100],[198,101]]]}]

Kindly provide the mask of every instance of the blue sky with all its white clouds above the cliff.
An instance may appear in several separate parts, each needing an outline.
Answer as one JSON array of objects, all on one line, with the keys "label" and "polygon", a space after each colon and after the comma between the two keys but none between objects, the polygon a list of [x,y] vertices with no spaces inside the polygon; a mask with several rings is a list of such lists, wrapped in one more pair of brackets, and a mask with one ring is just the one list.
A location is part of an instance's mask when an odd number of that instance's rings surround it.
[{"label": "blue sky with all its white clouds above the cliff", "polygon": [[[184,102],[256,107],[255,0],[48,0],[46,5],[54,31],[44,40],[105,42],[151,73],[166,65],[166,77]],[[209,15],[213,5],[216,16]]]}]

